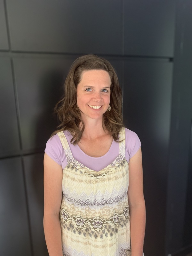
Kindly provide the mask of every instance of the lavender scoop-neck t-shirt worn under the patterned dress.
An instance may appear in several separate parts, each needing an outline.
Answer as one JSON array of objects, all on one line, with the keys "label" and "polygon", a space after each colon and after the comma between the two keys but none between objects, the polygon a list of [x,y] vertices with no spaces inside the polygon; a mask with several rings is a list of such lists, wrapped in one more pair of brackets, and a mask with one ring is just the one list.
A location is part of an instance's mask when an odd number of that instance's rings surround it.
[{"label": "lavender scoop-neck t-shirt worn under the patterned dress", "polygon": [[[68,131],[64,131],[66,139],[68,141],[69,147],[71,149],[71,153],[73,157],[85,165],[91,170],[100,171],[109,164],[111,164],[116,157],[119,155],[119,143],[114,141],[109,148],[109,151],[100,157],[92,157],[86,155],[78,145],[73,145],[70,143],[72,139],[72,135]],[[129,160],[134,156],[141,146],[140,139],[138,138],[135,132],[125,128],[125,158],[129,162]],[[64,169],[67,165],[67,159],[65,156],[65,152],[63,146],[61,144],[60,138],[57,134],[52,136],[47,143],[45,148],[45,153],[50,156],[56,163],[62,166]]]}]

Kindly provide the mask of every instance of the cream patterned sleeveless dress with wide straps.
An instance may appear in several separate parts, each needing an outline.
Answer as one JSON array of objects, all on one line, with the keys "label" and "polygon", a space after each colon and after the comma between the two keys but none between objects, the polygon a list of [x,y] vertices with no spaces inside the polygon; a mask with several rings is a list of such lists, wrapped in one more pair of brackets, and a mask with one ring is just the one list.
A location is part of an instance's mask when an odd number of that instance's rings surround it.
[{"label": "cream patterned sleeveless dress with wide straps", "polygon": [[131,256],[125,129],[119,134],[119,155],[99,172],[74,159],[65,134],[57,134],[68,162],[60,209],[63,255]]}]

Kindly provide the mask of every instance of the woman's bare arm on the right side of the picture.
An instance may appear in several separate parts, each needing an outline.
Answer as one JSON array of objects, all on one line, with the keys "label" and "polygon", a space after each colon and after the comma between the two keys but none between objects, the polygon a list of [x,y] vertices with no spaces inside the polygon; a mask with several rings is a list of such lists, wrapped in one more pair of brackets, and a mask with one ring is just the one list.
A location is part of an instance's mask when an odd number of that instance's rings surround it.
[{"label": "woman's bare arm on the right side of the picture", "polygon": [[145,234],[145,200],[141,149],[129,161],[128,200],[130,209],[132,256],[143,255]]}]

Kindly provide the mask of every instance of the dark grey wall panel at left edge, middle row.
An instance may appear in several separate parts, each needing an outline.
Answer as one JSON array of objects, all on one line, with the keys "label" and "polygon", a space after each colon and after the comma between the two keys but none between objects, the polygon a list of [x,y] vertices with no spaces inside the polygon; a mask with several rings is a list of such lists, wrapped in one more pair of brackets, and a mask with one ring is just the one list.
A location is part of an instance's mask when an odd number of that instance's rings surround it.
[{"label": "dark grey wall panel at left edge, middle row", "polygon": [[20,150],[11,61],[0,58],[0,157]]}]

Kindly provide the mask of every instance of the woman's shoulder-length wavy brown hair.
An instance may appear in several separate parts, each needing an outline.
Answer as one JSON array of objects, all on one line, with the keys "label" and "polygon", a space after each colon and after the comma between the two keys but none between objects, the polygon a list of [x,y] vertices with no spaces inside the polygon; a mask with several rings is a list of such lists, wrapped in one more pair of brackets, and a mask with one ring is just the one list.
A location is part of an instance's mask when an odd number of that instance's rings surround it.
[{"label": "woman's shoulder-length wavy brown hair", "polygon": [[[57,132],[68,130],[73,138],[72,144],[77,144],[81,140],[84,131],[84,122],[81,118],[81,112],[77,108],[77,85],[81,81],[82,72],[85,70],[105,70],[111,79],[110,88],[110,106],[111,110],[103,114],[103,128],[107,129],[115,141],[118,141],[119,132],[123,127],[122,119],[122,91],[119,86],[116,72],[109,61],[98,57],[97,55],[84,55],[77,58],[68,73],[65,80],[65,94],[55,106],[55,112],[60,120],[60,125],[51,136]],[[81,124],[81,129],[79,128]]]}]

